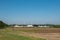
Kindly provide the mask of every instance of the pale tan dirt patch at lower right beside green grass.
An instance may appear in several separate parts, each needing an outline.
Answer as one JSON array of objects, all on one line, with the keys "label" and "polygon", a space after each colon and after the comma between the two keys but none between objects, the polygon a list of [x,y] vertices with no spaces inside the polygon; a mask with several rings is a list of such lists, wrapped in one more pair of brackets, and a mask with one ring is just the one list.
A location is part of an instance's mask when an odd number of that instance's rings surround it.
[{"label": "pale tan dirt patch at lower right beside green grass", "polygon": [[60,33],[26,33],[26,32],[22,32],[20,35],[36,37],[36,38],[44,38],[47,40],[60,40]]}]

